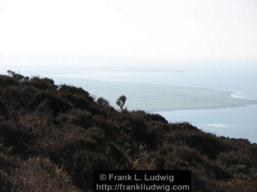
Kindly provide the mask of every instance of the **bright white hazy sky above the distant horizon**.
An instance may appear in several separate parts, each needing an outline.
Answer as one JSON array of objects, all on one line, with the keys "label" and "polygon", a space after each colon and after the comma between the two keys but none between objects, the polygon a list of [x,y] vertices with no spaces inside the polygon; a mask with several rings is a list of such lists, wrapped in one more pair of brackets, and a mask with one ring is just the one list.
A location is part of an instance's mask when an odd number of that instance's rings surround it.
[{"label": "bright white hazy sky above the distant horizon", "polygon": [[1,0],[0,55],[257,59],[257,1]]}]

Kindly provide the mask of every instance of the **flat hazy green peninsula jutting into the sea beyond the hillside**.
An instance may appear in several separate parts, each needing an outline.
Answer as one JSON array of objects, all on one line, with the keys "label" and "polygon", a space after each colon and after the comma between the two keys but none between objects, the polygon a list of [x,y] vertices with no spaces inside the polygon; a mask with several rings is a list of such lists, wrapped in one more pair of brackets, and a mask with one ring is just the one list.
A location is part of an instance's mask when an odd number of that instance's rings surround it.
[{"label": "flat hazy green peninsula jutting into the sea beyond the hillside", "polygon": [[130,110],[172,111],[188,109],[216,109],[257,104],[257,101],[231,97],[233,91],[151,83],[105,82],[91,79],[51,76],[56,83],[70,83],[82,87],[95,97],[103,96],[112,105],[118,95],[127,97]]}]

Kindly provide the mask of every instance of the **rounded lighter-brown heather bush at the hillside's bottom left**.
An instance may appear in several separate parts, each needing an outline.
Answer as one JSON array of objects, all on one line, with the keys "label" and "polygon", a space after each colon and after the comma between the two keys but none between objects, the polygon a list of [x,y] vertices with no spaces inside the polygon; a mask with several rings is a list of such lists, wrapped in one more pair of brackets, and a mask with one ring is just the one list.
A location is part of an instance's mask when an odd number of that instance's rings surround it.
[{"label": "rounded lighter-brown heather bush at the hillside's bottom left", "polygon": [[48,158],[30,158],[11,177],[14,191],[79,191],[65,172]]}]

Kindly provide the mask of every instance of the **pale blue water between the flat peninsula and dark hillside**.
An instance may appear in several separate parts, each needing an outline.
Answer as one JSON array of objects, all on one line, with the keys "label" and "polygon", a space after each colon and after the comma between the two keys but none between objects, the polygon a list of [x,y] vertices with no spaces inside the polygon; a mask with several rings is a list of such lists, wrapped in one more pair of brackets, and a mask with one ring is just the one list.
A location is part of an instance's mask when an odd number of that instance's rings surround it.
[{"label": "pale blue water between the flat peninsula and dark hillside", "polygon": [[257,105],[158,113],[170,122],[187,121],[207,132],[257,143]]}]

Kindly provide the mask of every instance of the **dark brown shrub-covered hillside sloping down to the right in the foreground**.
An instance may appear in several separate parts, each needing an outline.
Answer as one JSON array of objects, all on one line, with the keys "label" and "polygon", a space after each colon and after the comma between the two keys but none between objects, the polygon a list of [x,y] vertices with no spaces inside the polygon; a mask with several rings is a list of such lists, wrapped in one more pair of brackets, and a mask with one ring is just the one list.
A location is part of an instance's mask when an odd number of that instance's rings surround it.
[{"label": "dark brown shrub-covered hillside sloping down to the right in the foreground", "polygon": [[193,191],[256,191],[256,144],[121,106],[49,78],[1,75],[0,191],[90,191],[93,169],[192,169]]}]

